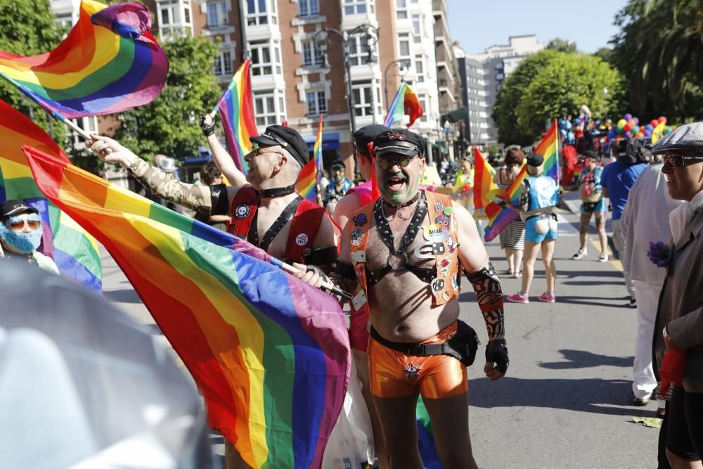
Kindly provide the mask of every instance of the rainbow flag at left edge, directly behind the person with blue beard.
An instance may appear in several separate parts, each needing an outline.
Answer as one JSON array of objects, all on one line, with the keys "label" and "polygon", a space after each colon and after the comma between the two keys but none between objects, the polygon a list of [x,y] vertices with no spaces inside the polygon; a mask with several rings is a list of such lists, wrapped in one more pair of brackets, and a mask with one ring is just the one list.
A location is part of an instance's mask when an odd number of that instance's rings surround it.
[{"label": "rainbow flag at left edge, directly behind the person with blue beard", "polygon": [[40,252],[53,257],[61,274],[74,278],[91,290],[101,291],[103,267],[95,238],[39,191],[22,152],[25,144],[69,162],[44,130],[0,100],[0,202],[22,199],[39,210],[44,230]]}]

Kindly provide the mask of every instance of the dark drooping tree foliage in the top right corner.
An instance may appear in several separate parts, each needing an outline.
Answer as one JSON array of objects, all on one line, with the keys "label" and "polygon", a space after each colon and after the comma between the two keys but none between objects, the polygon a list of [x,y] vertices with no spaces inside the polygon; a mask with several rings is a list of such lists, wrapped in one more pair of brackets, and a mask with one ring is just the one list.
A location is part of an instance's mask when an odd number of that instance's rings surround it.
[{"label": "dark drooping tree foliage in the top right corner", "polygon": [[687,121],[703,116],[703,3],[629,0],[611,41],[628,79],[632,113]]}]

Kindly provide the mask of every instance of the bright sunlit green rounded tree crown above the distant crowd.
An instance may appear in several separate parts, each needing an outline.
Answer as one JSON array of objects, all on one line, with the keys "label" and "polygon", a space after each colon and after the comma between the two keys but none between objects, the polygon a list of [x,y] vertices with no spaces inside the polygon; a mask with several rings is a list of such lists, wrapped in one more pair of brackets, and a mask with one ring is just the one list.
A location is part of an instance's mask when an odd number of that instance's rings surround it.
[{"label": "bright sunlit green rounded tree crown above the distant crowd", "polygon": [[620,73],[600,58],[557,53],[525,89],[517,105],[517,127],[525,135],[537,136],[546,122],[562,113],[576,115],[584,104],[593,117],[614,114],[621,106],[622,90]]}]

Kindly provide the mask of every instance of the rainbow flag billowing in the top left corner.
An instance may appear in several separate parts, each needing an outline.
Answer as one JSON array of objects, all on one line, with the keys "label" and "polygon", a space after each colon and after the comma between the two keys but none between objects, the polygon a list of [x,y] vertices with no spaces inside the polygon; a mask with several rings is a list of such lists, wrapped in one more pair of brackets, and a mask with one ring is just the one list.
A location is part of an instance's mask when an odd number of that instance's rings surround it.
[{"label": "rainbow flag billowing in the top left corner", "polygon": [[78,23],[53,51],[0,51],[0,76],[61,120],[135,108],[156,98],[169,71],[150,28],[146,6],[83,0]]}]

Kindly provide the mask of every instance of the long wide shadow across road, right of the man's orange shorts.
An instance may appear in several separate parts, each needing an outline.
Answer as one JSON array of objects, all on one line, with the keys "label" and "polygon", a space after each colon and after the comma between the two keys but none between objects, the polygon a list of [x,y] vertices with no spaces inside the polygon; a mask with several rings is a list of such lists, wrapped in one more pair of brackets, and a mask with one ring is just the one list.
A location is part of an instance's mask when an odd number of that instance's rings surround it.
[{"label": "long wide shadow across road, right of the man's orange shorts", "polygon": [[488,378],[471,381],[469,404],[484,409],[543,407],[611,416],[652,417],[654,407],[633,407],[632,383],[627,380],[527,379],[506,376],[491,383]]}]

